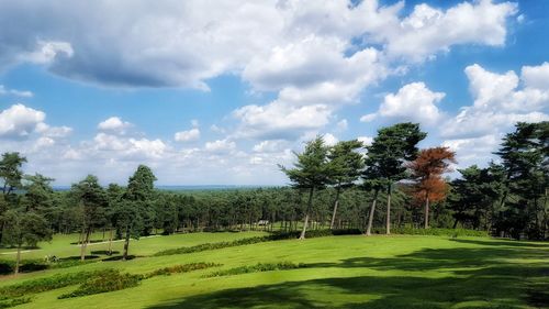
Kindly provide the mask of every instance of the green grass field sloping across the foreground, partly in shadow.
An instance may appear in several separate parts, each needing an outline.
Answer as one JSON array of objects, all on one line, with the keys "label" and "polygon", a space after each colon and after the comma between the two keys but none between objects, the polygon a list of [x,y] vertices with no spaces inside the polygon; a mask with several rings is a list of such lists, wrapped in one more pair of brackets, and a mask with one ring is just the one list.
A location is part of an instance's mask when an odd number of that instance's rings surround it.
[{"label": "green grass field sloping across the foreground, partly in shadow", "polygon": [[[133,241],[131,253],[155,252],[260,235],[260,232],[193,233]],[[24,257],[77,255],[77,236],[57,236]],[[116,244],[120,250],[122,244]],[[98,244],[92,250],[104,250]],[[10,250],[2,250],[9,252]],[[5,258],[2,255],[1,258]],[[488,238],[348,235],[257,243],[191,254],[98,262],[0,277],[0,286],[54,274],[117,268],[145,274],[161,267],[223,264],[141,282],[137,287],[57,299],[69,286],[31,296],[15,308],[546,308],[549,244]],[[205,277],[258,262],[305,263],[306,267]]]}]

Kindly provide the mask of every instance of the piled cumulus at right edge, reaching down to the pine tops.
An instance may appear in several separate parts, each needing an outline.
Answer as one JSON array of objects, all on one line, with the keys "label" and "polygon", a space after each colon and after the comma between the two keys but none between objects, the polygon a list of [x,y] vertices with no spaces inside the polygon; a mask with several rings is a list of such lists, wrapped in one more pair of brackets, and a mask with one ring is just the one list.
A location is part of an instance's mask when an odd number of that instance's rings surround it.
[{"label": "piled cumulus at right edge, reaching down to the pine tops", "polygon": [[513,70],[492,73],[478,64],[466,68],[473,103],[448,119],[440,132],[461,167],[494,158],[492,152],[516,122],[549,120],[548,73],[547,63],[524,66],[520,76]]}]

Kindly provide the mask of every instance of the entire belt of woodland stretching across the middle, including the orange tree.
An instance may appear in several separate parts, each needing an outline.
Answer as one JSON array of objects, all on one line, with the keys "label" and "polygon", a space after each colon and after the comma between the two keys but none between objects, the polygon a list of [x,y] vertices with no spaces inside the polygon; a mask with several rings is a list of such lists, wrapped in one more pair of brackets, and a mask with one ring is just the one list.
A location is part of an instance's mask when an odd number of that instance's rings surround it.
[{"label": "entire belt of woodland stretching across the middle, including the orange tree", "polygon": [[[81,258],[92,232],[105,240],[163,233],[261,229],[360,229],[366,235],[393,229],[472,229],[495,236],[549,236],[549,122],[517,123],[488,167],[451,167],[459,157],[446,147],[419,150],[418,124],[382,128],[369,145],[322,136],[280,166],[289,187],[168,191],[155,189],[153,170],[141,165],[126,186],[100,185],[89,175],[70,190],[54,179],[24,175],[26,158],[0,161],[0,239],[21,250],[53,233],[80,233]],[[456,174],[453,174],[456,175]],[[19,258],[18,258],[19,260]]]}]

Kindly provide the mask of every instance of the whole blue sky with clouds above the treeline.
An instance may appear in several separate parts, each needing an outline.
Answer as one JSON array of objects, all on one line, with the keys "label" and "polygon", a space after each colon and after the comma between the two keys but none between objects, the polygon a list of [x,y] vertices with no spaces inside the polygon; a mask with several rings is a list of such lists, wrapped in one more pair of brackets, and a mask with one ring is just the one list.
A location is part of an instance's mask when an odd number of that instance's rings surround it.
[{"label": "whole blue sky with clouds above the treeline", "polygon": [[70,185],[288,183],[323,134],[485,166],[549,120],[549,1],[0,0],[0,152]]}]

